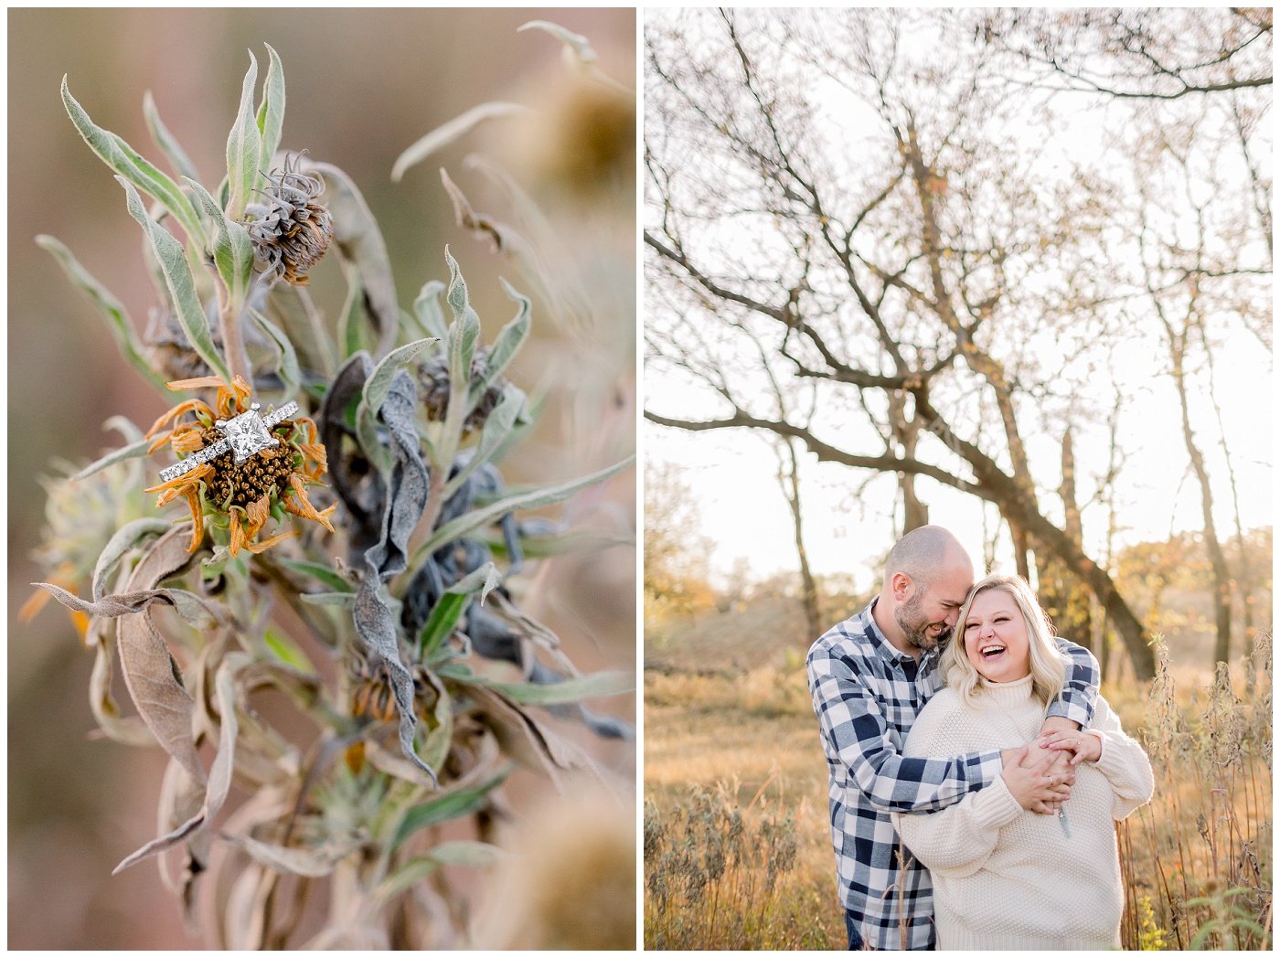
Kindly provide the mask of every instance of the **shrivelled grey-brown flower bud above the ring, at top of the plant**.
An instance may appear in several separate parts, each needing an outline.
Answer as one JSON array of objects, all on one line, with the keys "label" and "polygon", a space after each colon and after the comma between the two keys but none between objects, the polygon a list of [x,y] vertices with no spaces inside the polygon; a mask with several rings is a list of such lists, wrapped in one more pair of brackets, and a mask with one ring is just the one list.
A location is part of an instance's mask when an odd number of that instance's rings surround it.
[{"label": "shrivelled grey-brown flower bud above the ring, at top of the plant", "polygon": [[262,191],[265,202],[252,203],[247,224],[253,253],[264,272],[282,276],[294,287],[307,285],[307,270],[324,256],[333,239],[333,217],[315,202],[324,180],[298,173],[285,160],[284,170],[271,170]]}]

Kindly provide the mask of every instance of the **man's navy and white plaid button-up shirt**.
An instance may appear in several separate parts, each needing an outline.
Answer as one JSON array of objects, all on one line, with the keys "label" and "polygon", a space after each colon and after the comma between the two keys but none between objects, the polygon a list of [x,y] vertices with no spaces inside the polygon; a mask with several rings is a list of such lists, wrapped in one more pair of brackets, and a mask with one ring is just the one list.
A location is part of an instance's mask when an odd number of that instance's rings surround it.
[{"label": "man's navy and white plaid button-up shirt", "polygon": [[[888,813],[945,808],[995,781],[1000,752],[904,758],[915,716],[938,691],[938,650],[916,663],[876,625],[873,599],[809,650],[809,691],[831,767],[831,836],[840,898],[879,950],[932,949],[933,884],[901,844]],[[1088,725],[1098,665],[1088,650],[1059,640],[1071,659],[1062,696],[1048,710]]]}]

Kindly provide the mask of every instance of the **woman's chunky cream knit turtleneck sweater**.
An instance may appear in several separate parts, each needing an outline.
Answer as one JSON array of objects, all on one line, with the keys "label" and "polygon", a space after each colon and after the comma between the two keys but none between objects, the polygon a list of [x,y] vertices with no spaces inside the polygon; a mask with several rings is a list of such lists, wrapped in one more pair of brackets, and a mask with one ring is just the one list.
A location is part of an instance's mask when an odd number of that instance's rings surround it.
[{"label": "woman's chunky cream knit turtleneck sweater", "polygon": [[[987,683],[972,709],[950,688],[920,712],[902,753],[946,757],[1016,748],[1039,732],[1044,707],[1032,679]],[[1151,761],[1098,697],[1089,729],[1096,764],[1076,766],[1059,819],[1021,808],[1005,780],[938,812],[893,815],[902,844],[933,876],[938,946],[946,949],[1108,949],[1120,944],[1124,890],[1112,819],[1151,799]]]}]

